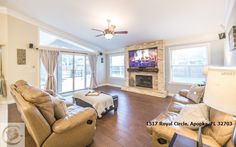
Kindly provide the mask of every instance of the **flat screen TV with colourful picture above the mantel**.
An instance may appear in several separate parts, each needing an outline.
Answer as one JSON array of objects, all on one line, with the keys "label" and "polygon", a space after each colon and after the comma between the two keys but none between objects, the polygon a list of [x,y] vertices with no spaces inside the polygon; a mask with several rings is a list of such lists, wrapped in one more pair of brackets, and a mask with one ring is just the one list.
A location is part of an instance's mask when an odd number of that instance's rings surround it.
[{"label": "flat screen TV with colourful picture above the mantel", "polygon": [[129,51],[129,67],[156,67],[157,48]]}]

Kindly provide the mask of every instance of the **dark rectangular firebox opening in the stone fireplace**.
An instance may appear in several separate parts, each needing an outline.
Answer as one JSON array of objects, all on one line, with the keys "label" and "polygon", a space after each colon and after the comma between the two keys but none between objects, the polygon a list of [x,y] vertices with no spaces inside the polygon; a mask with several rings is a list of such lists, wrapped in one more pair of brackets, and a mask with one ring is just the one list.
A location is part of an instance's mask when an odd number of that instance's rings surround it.
[{"label": "dark rectangular firebox opening in the stone fireplace", "polygon": [[135,81],[136,81],[136,86],[152,88],[152,76],[136,75]]}]

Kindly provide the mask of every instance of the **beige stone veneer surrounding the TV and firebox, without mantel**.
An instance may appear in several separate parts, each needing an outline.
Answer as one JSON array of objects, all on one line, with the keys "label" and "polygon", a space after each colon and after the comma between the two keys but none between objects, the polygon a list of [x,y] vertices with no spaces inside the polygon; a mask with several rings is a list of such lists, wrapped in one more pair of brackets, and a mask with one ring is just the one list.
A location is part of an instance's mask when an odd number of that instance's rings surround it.
[{"label": "beige stone veneer surrounding the TV and firebox, without mantel", "polygon": [[[159,69],[158,73],[155,72],[128,72],[129,68],[129,55],[130,50],[146,49],[157,47],[157,67]],[[151,96],[157,96],[165,98],[167,96],[167,91],[165,90],[165,51],[164,42],[162,40],[147,42],[137,45],[131,45],[125,48],[125,64],[126,64],[126,74],[125,74],[125,86],[122,90],[131,91],[140,94],[146,94]],[[152,76],[152,87],[153,88],[142,88],[142,87],[130,87],[129,79],[132,77],[135,79],[136,75],[151,75]]]}]

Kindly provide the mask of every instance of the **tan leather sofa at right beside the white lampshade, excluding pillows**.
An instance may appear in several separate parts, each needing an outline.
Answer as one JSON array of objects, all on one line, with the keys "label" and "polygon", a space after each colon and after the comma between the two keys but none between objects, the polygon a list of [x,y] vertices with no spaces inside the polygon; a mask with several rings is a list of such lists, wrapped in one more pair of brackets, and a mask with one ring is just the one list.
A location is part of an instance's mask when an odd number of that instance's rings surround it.
[{"label": "tan leather sofa at right beside the white lampshade, excluding pillows", "polygon": [[[194,104],[194,102],[187,98],[188,90],[181,90],[176,94],[170,103],[168,110],[157,116],[152,122],[173,122],[179,115],[179,112],[186,104]],[[231,115],[217,111],[210,108],[210,121],[211,122],[224,122],[230,121],[234,124],[234,119]],[[211,147],[227,146],[233,147],[231,135],[233,126],[205,126],[202,130],[202,140],[204,144]],[[191,139],[197,140],[197,131],[191,130],[186,127],[179,126],[160,126],[153,125],[147,126],[148,132],[152,138],[153,147],[167,147],[174,135],[178,133],[187,136]]]}]

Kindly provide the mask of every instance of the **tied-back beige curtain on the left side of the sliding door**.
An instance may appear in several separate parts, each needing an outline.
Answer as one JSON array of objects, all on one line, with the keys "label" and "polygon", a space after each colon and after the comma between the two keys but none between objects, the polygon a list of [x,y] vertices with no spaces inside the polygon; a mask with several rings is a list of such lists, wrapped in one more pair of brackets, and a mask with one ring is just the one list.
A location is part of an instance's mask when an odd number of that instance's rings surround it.
[{"label": "tied-back beige curtain on the left side of the sliding door", "polygon": [[48,74],[46,90],[56,92],[56,80],[54,72],[57,66],[59,51],[40,50],[40,59]]}]

